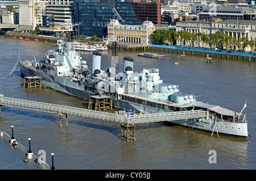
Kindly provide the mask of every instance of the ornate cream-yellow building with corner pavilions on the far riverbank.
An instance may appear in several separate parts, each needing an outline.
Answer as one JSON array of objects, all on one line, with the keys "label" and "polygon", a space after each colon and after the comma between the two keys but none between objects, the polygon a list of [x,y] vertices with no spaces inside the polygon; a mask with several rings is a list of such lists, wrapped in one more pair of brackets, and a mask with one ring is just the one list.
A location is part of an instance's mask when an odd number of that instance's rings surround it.
[{"label": "ornate cream-yellow building with corner pavilions on the far riverbank", "polygon": [[141,25],[120,24],[112,19],[108,23],[108,37],[117,36],[118,41],[135,44],[150,44],[155,26],[145,21]]}]

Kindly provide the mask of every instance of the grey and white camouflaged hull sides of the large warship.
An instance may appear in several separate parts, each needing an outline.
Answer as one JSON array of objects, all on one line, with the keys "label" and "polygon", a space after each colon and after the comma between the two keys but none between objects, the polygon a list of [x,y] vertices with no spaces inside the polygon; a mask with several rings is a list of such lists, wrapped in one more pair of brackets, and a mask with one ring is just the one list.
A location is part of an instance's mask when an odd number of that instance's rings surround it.
[{"label": "grey and white camouflaged hull sides of the large warship", "polygon": [[[85,91],[84,85],[79,85],[77,82],[72,82],[64,77],[55,77],[44,73],[43,71],[36,71],[30,69],[24,65],[20,65],[20,74],[22,77],[36,76],[42,77],[47,87],[63,92],[68,95],[75,96],[77,98],[89,100],[89,96],[95,95],[96,92]],[[119,110],[130,109],[138,110],[145,113],[160,113],[167,110],[160,110],[156,107],[150,107],[142,103],[129,102],[123,99],[114,99],[113,106]],[[205,132],[214,132],[232,137],[247,138],[247,122],[246,123],[233,123],[225,121],[217,121],[215,127],[215,121],[212,119],[186,119],[170,121],[171,123],[181,125],[186,128],[197,129]]]}]

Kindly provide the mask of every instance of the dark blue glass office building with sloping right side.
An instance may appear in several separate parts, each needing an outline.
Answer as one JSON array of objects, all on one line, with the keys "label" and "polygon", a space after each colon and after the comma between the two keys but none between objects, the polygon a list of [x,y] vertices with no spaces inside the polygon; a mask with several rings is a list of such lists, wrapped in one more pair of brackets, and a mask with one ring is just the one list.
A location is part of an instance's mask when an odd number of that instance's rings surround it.
[{"label": "dark blue glass office building with sloping right side", "polygon": [[118,19],[124,24],[141,24],[130,2],[118,0],[74,0],[73,12],[76,35],[106,37],[110,19]]}]

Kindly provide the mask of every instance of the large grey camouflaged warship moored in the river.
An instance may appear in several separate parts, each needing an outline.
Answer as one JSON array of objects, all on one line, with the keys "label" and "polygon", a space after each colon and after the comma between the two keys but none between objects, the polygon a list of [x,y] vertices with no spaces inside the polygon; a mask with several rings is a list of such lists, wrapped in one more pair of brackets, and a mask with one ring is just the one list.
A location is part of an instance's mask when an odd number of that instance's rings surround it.
[{"label": "large grey camouflaged warship moored in the river", "polygon": [[[172,123],[206,132],[217,132],[247,138],[247,120],[241,112],[199,102],[195,95],[184,94],[178,85],[163,83],[159,69],[142,68],[133,72],[134,60],[123,58],[123,71],[118,70],[117,41],[112,40],[112,65],[101,69],[101,54],[93,52],[92,70],[72,48],[72,41],[59,40],[57,50],[48,50],[40,61],[19,60],[22,77],[40,76],[47,87],[77,98],[108,95],[118,110],[136,113],[208,110],[203,119],[174,120]],[[246,106],[246,104],[245,104]]]}]

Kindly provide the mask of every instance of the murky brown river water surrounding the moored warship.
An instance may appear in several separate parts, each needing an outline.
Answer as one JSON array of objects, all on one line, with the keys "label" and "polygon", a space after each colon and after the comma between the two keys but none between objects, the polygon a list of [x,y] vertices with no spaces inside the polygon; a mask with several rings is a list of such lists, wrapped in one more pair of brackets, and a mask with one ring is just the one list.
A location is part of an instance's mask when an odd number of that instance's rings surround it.
[{"label": "murky brown river water surrounding the moored warship", "polygon": [[[63,104],[84,108],[84,100],[61,94],[51,89],[27,90],[23,88],[20,70],[13,70],[19,57],[39,60],[46,50],[56,47],[52,43],[0,39],[0,89],[11,98]],[[92,68],[92,53],[81,52]],[[102,53],[101,69],[111,66],[111,53]],[[138,57],[137,53],[118,53],[119,68],[123,57],[134,59],[134,72],[141,68],[159,69],[165,83],[179,85],[185,93],[195,93],[197,100],[240,112],[247,99],[246,117],[250,136],[247,140],[193,131],[170,123],[136,125],[136,141],[122,141],[120,125],[103,120],[68,115],[68,127],[53,113],[1,107],[0,131],[14,135],[20,144],[27,146],[31,138],[31,150],[39,156],[46,153],[51,165],[51,153],[55,153],[54,166],[58,170],[176,170],[176,169],[256,169],[256,64],[242,61],[166,54],[166,58]],[[175,65],[174,62],[179,62]],[[245,111],[243,111],[245,113]],[[64,119],[64,117],[63,117]],[[1,149],[1,148],[0,148]],[[209,163],[210,150],[216,151],[217,163]],[[1,155],[0,155],[1,157]],[[8,158],[1,158],[1,165]],[[23,159],[20,158],[20,159]],[[0,167],[15,169],[15,165]]]}]

